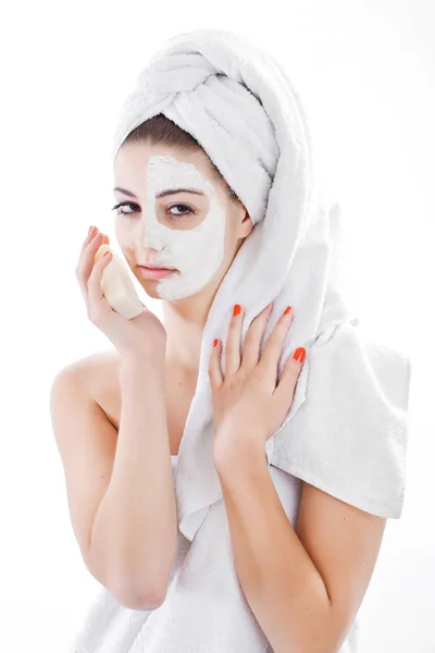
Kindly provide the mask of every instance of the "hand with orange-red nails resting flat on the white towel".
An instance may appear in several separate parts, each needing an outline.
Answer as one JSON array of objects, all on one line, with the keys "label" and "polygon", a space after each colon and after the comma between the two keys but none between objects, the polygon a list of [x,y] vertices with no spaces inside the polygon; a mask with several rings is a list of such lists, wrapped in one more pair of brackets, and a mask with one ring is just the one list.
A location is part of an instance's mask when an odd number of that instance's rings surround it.
[{"label": "hand with orange-red nails resting flat on the white towel", "polygon": [[293,322],[293,309],[277,320],[260,357],[260,344],[272,303],[249,325],[240,355],[241,323],[245,311],[232,317],[225,348],[225,378],[221,370],[221,341],[212,349],[209,379],[213,401],[214,459],[222,461],[244,452],[264,457],[265,442],[281,427],[295,395],[303,365],[289,356],[278,381],[278,361],[284,338]]}]

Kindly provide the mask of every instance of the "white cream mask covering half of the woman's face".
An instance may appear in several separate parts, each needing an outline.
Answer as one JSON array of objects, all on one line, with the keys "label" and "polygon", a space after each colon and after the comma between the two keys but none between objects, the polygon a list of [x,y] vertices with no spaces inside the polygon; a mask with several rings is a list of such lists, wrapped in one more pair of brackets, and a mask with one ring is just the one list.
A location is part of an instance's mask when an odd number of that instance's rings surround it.
[{"label": "white cream mask covering half of the woman's face", "polygon": [[[206,218],[192,229],[170,229],[156,212],[156,195],[167,188],[196,188],[206,193],[210,206]],[[225,245],[225,208],[213,185],[199,170],[169,156],[151,156],[147,170],[145,246],[163,251],[159,263],[177,272],[157,283],[162,299],[183,299],[201,291],[219,270]],[[182,202],[179,202],[182,204]],[[181,218],[181,221],[183,218]]]}]

